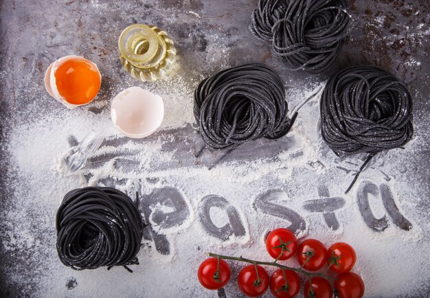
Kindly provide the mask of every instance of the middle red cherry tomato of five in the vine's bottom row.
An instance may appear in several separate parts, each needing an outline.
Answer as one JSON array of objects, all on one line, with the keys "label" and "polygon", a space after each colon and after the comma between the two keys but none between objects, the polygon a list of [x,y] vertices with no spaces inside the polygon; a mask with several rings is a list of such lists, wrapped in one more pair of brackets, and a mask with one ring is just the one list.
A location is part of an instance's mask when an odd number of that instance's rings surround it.
[{"label": "middle red cherry tomato of five in the vine's bottom row", "polygon": [[282,269],[279,268],[270,277],[269,287],[273,296],[277,298],[293,298],[300,290],[299,275],[291,270],[284,270],[282,273]]}]

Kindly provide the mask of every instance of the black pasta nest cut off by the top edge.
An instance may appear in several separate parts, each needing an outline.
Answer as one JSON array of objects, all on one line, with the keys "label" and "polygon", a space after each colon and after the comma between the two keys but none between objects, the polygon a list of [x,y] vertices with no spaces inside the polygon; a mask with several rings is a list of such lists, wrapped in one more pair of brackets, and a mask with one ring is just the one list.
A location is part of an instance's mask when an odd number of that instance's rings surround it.
[{"label": "black pasta nest cut off by the top edge", "polygon": [[339,56],[349,20],[346,0],[259,0],[249,28],[288,69],[321,73]]}]

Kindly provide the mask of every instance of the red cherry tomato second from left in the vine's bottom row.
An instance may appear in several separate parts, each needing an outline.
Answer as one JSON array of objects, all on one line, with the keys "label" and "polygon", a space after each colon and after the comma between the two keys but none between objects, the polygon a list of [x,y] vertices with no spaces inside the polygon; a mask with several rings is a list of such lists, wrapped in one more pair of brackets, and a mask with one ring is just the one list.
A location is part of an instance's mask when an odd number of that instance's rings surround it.
[{"label": "red cherry tomato second from left in the vine's bottom row", "polygon": [[258,283],[256,267],[252,264],[242,268],[238,275],[239,288],[242,293],[248,297],[258,297],[263,295],[269,287],[269,275],[267,274],[266,269],[262,266],[257,266],[257,268],[260,283]]}]

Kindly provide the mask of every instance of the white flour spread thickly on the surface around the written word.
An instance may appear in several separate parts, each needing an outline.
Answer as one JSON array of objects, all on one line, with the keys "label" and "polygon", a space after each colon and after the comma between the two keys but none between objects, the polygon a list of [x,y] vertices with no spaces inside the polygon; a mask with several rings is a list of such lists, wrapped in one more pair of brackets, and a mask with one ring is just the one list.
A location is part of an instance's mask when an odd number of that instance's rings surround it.
[{"label": "white flour spread thickly on the surface around the written word", "polygon": [[[172,79],[165,89],[166,119],[163,127],[171,128],[172,124],[191,122],[192,115],[177,113],[183,106],[192,109],[192,89],[183,87],[181,77]],[[287,100],[290,106],[295,106],[316,89],[317,84],[311,84],[308,89],[289,89]],[[309,91],[305,91],[309,90]],[[169,102],[169,98],[173,99]],[[46,98],[45,100],[50,100]],[[172,112],[175,111],[175,112]],[[115,286],[118,282],[127,284],[127,295],[144,297],[166,297],[174,290],[177,297],[214,295],[207,292],[198,284],[196,268],[204,260],[205,252],[244,255],[260,260],[269,260],[264,251],[264,235],[276,227],[288,225],[287,220],[280,220],[274,216],[262,214],[252,207],[258,194],[267,190],[282,190],[273,202],[288,206],[297,211],[306,221],[306,230],[302,236],[317,238],[330,245],[335,241],[346,241],[357,250],[359,259],[354,271],[363,277],[367,293],[370,296],[385,295],[387,290],[400,295],[405,287],[401,283],[403,274],[414,275],[412,282],[416,286],[425,282],[429,271],[422,264],[422,260],[410,259],[414,251],[425,251],[427,240],[422,240],[423,229],[428,230],[426,218],[416,213],[416,206],[421,200],[415,185],[409,185],[408,179],[401,174],[402,165],[408,163],[403,158],[404,152],[393,150],[385,156],[376,159],[374,165],[361,175],[360,181],[371,179],[376,184],[384,182],[383,171],[389,173],[392,180],[388,182],[396,194],[396,204],[405,216],[412,222],[410,231],[402,231],[394,225],[381,232],[372,232],[363,222],[357,208],[355,192],[343,195],[352,175],[344,175],[342,171],[334,171],[336,165],[351,168],[348,161],[361,164],[357,158],[351,157],[346,161],[339,161],[322,144],[317,132],[319,108],[317,100],[306,104],[299,111],[299,117],[291,137],[297,144],[278,154],[272,161],[257,159],[245,163],[221,163],[213,170],[207,170],[204,165],[180,165],[178,168],[157,170],[157,165],[172,159],[174,152],[160,152],[163,141],[149,141],[133,143],[126,142],[118,148],[115,146],[102,147],[98,155],[117,152],[118,157],[124,152],[137,151],[135,160],[139,161],[139,171],[124,172],[122,168],[115,168],[113,162],[116,157],[104,163],[100,168],[91,170],[93,177],[90,184],[97,184],[98,179],[111,176],[113,179],[128,179],[128,184],[120,187],[130,190],[133,179],[159,179],[156,183],[147,183],[142,187],[146,194],[152,190],[166,186],[174,187],[185,198],[190,209],[190,216],[181,225],[163,229],[152,221],[155,231],[166,235],[172,247],[170,255],[161,255],[155,250],[152,241],[145,240],[146,246],[139,253],[140,266],[133,266],[135,273],[129,274],[122,268],[106,271],[100,268],[95,271],[72,271],[60,264],[56,257],[54,215],[60,200],[68,190],[86,185],[83,176],[62,176],[61,159],[67,152],[69,145],[66,136],[73,132],[78,140],[82,139],[89,128],[93,128],[102,135],[116,135],[115,128],[109,119],[109,111],[105,109],[101,114],[90,113],[87,108],[74,111],[64,110],[60,115],[47,113],[37,122],[17,126],[10,141],[12,160],[19,173],[14,188],[14,196],[19,198],[7,214],[3,214],[9,222],[6,241],[3,248],[13,254],[20,249],[30,249],[34,255],[30,256],[32,264],[38,264],[43,272],[38,276],[41,288],[38,295],[58,296],[109,296],[124,295],[124,288]],[[416,150],[425,146],[424,136],[417,129],[416,138],[407,145],[407,155],[411,156]],[[295,152],[301,152],[296,154]],[[320,163],[317,163],[320,161]],[[352,168],[357,168],[353,166]],[[407,167],[407,164],[405,165]],[[60,171],[60,172],[58,172]],[[82,170],[82,173],[85,172]],[[395,177],[395,178],[394,178]],[[318,197],[315,185],[322,181],[328,187],[330,195],[342,196],[346,204],[336,211],[340,228],[331,231],[323,221],[321,214],[312,214],[302,209],[304,200]],[[18,181],[25,181],[25,184]],[[359,182],[360,182],[359,181]],[[396,181],[396,182],[394,182]],[[385,183],[387,183],[385,181]],[[401,186],[400,186],[401,185]],[[354,187],[357,189],[356,187]],[[226,198],[233,205],[245,227],[245,236],[231,236],[228,240],[220,240],[207,234],[199,222],[199,202],[209,194],[216,194]],[[385,214],[381,201],[372,198],[375,216]],[[378,203],[379,202],[379,203]],[[168,212],[171,208],[158,203],[153,210]],[[4,213],[4,211],[3,211]],[[32,220],[28,220],[32,214]],[[424,212],[425,215],[425,212]],[[225,211],[217,207],[212,208],[210,216],[216,227],[223,227],[228,222]],[[16,220],[19,219],[19,220]],[[150,222],[151,222],[150,218]],[[34,227],[36,225],[36,227]],[[43,231],[43,233],[41,233]],[[40,253],[43,251],[43,253]],[[408,259],[409,258],[409,259]],[[402,270],[398,270],[398,263],[394,260],[407,260],[402,263]],[[294,264],[288,261],[287,264]],[[231,263],[234,275],[240,264]],[[422,268],[422,269],[420,269]],[[25,273],[14,273],[17,280],[25,277]],[[73,278],[72,278],[73,277]],[[32,277],[34,278],[34,277]],[[227,285],[227,297],[236,297],[238,290],[234,280]],[[168,281],[168,286],[166,286]],[[68,289],[65,285],[75,286]],[[409,286],[413,286],[410,285]]]}]

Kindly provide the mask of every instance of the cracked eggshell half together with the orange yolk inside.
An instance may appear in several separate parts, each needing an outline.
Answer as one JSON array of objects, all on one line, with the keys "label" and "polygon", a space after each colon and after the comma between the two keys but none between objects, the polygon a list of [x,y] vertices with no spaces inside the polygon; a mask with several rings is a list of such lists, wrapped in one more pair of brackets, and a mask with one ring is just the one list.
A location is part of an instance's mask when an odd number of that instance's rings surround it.
[{"label": "cracked eggshell half together with the orange yolk inside", "polygon": [[59,58],[45,73],[46,91],[67,108],[89,104],[101,84],[102,76],[97,65],[75,55]]}]

